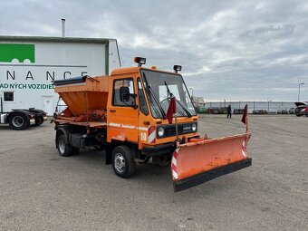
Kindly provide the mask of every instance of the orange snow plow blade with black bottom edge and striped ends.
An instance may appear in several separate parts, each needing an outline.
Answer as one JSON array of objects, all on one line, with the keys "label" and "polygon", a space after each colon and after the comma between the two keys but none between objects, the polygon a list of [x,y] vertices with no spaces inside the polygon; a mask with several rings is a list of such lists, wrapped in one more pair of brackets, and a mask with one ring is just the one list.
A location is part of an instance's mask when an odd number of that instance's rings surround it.
[{"label": "orange snow plow blade with black bottom edge and striped ends", "polygon": [[195,139],[178,145],[171,162],[174,191],[251,166],[252,159],[246,151],[250,136],[245,133],[218,139]]}]

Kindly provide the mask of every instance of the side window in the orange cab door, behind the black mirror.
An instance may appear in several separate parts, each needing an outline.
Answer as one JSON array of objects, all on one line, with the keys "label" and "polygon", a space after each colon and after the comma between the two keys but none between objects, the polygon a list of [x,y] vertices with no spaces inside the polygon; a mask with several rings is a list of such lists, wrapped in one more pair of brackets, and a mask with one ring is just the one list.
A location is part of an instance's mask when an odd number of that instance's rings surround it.
[{"label": "side window in the orange cab door, behind the black mirror", "polygon": [[[121,94],[121,96],[120,96]],[[131,94],[131,96],[130,96]],[[136,101],[133,97],[134,94],[134,82],[133,79],[121,79],[113,82],[113,95],[112,105],[114,106],[131,106],[135,105]],[[121,101],[127,97],[125,101]]]}]

